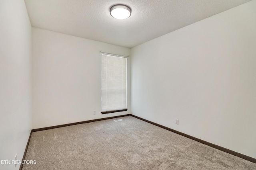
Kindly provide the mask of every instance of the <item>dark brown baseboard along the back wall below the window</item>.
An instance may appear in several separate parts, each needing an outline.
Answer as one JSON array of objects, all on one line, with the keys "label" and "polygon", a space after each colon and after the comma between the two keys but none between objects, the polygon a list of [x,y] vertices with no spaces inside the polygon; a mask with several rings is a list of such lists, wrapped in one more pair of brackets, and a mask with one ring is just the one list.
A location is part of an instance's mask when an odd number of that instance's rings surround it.
[{"label": "dark brown baseboard along the back wall below the window", "polygon": [[125,116],[130,116],[130,115],[131,114],[119,115],[119,116],[105,117],[105,118],[100,118],[100,119],[92,119],[92,120],[87,120],[87,121],[80,121],[80,122],[75,122],[75,123],[68,123],[68,124],[63,124],[63,125],[56,125],[56,126],[50,126],[50,127],[42,127],[42,128],[38,128],[38,129],[32,129],[31,132],[44,131],[44,130],[55,129],[55,128],[59,128],[59,127],[78,125],[78,124],[82,124],[82,123],[90,123],[90,122],[94,122],[94,121],[114,119],[114,118],[117,118],[117,117],[125,117]]}]

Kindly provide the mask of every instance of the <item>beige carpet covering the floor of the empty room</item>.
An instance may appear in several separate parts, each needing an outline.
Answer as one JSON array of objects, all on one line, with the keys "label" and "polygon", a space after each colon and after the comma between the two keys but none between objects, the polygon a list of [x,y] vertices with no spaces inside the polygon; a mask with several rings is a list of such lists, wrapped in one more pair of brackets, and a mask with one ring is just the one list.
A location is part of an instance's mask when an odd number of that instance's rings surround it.
[{"label": "beige carpet covering the floor of the empty room", "polygon": [[[116,119],[123,121],[114,122]],[[33,132],[22,170],[256,170],[132,116]]]}]

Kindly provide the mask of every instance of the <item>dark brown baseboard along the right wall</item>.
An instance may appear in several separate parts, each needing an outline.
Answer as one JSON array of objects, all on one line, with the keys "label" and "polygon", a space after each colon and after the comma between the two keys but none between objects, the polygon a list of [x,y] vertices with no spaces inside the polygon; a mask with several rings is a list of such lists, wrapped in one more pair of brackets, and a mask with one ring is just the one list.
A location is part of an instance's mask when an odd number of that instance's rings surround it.
[{"label": "dark brown baseboard along the right wall", "polygon": [[162,127],[162,128],[164,128],[164,129],[166,129],[166,130],[168,130],[168,131],[172,131],[172,132],[174,132],[174,133],[177,133],[177,134],[179,134],[179,135],[182,135],[182,136],[187,137],[187,138],[189,138],[189,139],[192,139],[192,140],[194,140],[194,141],[198,141],[198,142],[200,142],[200,143],[202,143],[202,144],[204,144],[204,145],[208,145],[208,146],[213,147],[213,148],[215,148],[215,149],[222,150],[222,151],[227,152],[227,153],[229,153],[229,154],[232,154],[232,155],[234,155],[234,156],[238,156],[238,157],[243,158],[243,159],[245,159],[245,160],[248,160],[248,161],[250,161],[250,162],[256,163],[256,159],[255,159],[255,158],[252,158],[252,157],[250,157],[250,156],[246,156],[246,155],[244,155],[244,154],[235,152],[235,151],[233,151],[233,150],[226,149],[226,148],[224,148],[224,147],[220,147],[220,146],[215,145],[215,144],[213,144],[213,143],[206,142],[206,141],[204,141],[204,140],[202,140],[202,139],[198,139],[198,138],[196,138],[196,137],[187,135],[187,134],[185,134],[185,133],[176,131],[176,130],[174,130],[174,129],[171,129],[171,128],[169,128],[169,127],[165,127],[165,126],[163,126],[163,125],[160,125],[160,124],[158,124],[158,123],[154,123],[154,122],[152,122],[152,121],[143,119],[143,118],[141,118],[141,117],[138,117],[138,116],[135,116],[135,115],[132,115],[132,114],[131,114],[131,116],[132,116],[132,117],[135,117],[135,118],[137,118],[137,119],[146,121],[146,122],[148,122],[148,123],[151,123],[151,124],[153,124],[153,125],[156,125],[156,126],[158,126],[158,127]]}]

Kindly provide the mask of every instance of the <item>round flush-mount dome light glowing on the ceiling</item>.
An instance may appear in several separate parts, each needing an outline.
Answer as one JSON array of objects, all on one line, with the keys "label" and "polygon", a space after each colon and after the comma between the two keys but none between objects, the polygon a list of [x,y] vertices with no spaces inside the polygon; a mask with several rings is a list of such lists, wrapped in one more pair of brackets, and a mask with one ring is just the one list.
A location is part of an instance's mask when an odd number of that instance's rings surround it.
[{"label": "round flush-mount dome light glowing on the ceiling", "polygon": [[116,19],[124,20],[131,16],[131,8],[126,5],[114,5],[110,8],[110,15]]}]

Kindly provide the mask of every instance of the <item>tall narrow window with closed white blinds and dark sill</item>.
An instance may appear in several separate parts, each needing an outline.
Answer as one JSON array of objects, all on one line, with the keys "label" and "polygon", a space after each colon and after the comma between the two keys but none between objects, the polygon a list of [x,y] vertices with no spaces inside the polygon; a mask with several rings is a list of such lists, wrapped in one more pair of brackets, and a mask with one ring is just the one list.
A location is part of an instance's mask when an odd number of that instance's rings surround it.
[{"label": "tall narrow window with closed white blinds and dark sill", "polygon": [[127,58],[102,53],[102,114],[127,110]]}]

